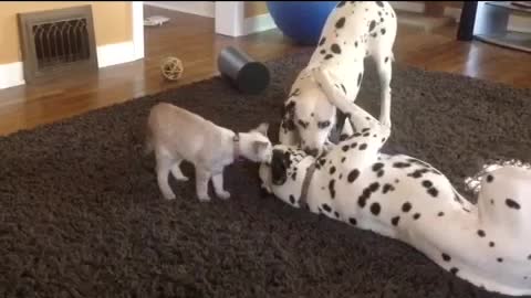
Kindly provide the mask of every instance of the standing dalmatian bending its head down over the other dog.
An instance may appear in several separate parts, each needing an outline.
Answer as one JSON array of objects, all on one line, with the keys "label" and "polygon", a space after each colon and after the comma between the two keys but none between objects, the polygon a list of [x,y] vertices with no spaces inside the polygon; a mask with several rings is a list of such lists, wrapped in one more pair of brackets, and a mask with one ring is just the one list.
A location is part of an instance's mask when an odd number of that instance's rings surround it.
[{"label": "standing dalmatian bending its head down over the other dog", "polygon": [[[316,86],[310,70],[322,66],[341,78],[334,82],[351,102],[356,99],[371,56],[381,79],[381,121],[391,126],[391,78],[397,20],[385,1],[341,1],[329,15],[319,45],[296,77],[284,102],[279,140],[312,155],[330,146],[337,124],[336,108]],[[352,131],[344,121],[346,131]],[[341,128],[340,128],[341,130]]]}]

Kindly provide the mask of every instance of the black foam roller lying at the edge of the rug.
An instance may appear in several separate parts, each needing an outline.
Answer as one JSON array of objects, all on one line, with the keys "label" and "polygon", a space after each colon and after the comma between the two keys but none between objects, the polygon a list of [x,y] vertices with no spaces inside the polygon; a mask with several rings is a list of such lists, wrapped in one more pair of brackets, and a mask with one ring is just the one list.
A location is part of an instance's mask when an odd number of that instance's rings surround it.
[{"label": "black foam roller lying at the edge of the rug", "polygon": [[219,53],[218,70],[242,93],[259,94],[270,82],[269,70],[264,64],[232,46],[225,47]]}]

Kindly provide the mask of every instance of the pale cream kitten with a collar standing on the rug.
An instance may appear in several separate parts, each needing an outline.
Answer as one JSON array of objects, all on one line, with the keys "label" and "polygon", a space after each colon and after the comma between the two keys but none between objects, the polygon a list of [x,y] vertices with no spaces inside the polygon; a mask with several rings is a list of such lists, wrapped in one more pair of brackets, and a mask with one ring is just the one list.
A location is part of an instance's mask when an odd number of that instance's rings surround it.
[{"label": "pale cream kitten with a collar standing on the rug", "polygon": [[216,195],[229,199],[223,189],[223,168],[242,157],[253,162],[270,162],[271,141],[268,124],[248,132],[236,134],[177,106],[162,103],[154,106],[147,123],[147,152],[155,151],[158,187],[167,200],[175,199],[168,183],[187,181],[180,162],[187,160],[196,169],[196,192],[200,201],[210,201],[208,182],[212,179]]}]

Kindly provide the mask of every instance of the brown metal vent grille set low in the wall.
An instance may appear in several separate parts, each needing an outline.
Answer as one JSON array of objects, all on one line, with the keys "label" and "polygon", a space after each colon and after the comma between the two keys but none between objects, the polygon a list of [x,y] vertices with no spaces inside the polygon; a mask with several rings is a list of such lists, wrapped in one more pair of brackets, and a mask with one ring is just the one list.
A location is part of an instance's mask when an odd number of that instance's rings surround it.
[{"label": "brown metal vent grille set low in the wall", "polygon": [[91,6],[19,13],[24,79],[97,70]]}]

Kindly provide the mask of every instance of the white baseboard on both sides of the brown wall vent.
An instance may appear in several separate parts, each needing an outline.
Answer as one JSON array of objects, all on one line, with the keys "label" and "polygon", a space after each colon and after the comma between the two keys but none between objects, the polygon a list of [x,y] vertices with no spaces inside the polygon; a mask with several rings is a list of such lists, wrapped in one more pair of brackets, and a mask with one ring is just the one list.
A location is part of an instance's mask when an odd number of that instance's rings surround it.
[{"label": "white baseboard on both sides of the brown wall vent", "polygon": [[[97,51],[97,66],[100,68],[132,62],[139,57],[135,44],[131,42],[100,45]],[[0,89],[6,89],[25,84],[24,68],[21,61],[0,64]]]}]

